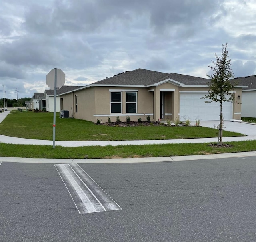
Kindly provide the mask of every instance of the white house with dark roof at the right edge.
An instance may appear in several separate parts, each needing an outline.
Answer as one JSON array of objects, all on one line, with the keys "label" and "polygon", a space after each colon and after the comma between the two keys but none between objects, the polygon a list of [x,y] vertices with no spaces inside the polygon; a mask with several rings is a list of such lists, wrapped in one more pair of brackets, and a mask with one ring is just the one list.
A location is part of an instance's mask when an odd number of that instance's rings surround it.
[{"label": "white house with dark roof at the right edge", "polygon": [[234,78],[247,87],[242,88],[242,117],[256,117],[256,75]]}]

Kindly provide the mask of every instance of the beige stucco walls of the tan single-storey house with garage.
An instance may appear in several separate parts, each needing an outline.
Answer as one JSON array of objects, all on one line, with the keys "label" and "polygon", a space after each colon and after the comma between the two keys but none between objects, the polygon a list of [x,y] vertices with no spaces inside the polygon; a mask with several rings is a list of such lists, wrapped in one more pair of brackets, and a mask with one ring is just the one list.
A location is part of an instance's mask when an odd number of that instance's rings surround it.
[{"label": "beige stucco walls of the tan single-storey house with garage", "polygon": [[[110,90],[122,91],[122,113],[110,113]],[[137,94],[137,113],[126,113],[126,91],[138,90]],[[208,87],[178,87],[171,83],[163,83],[153,87],[90,87],[79,91],[74,91],[66,95],[61,95],[63,98],[63,109],[69,110],[70,117],[77,119],[85,119],[96,122],[97,119],[103,123],[108,121],[108,116],[112,122],[116,121],[119,116],[120,121],[126,121],[126,116],[129,116],[131,121],[138,121],[141,118],[143,121],[146,115],[150,115],[151,121],[158,121],[160,117],[160,90],[165,94],[165,119],[175,120],[179,117],[180,93],[179,91],[206,91],[202,92],[202,97],[207,95]],[[242,97],[241,88],[236,88],[235,101],[238,101],[237,96]],[[78,100],[78,112],[75,109],[75,95]],[[241,101],[241,100],[240,100]],[[72,111],[71,111],[72,108]],[[241,118],[241,104],[233,103],[233,118]]]}]

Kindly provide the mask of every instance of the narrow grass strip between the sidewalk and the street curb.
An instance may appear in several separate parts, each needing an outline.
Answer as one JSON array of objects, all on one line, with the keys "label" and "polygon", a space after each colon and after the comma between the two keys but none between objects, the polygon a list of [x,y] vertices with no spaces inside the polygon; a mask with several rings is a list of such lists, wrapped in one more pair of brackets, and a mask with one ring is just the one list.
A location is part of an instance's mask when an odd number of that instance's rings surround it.
[{"label": "narrow grass strip between the sidewalk and the street curb", "polygon": [[210,147],[202,144],[164,144],[164,145],[126,145],[126,146],[91,146],[61,147],[55,149],[50,145],[12,145],[0,143],[1,157],[27,158],[132,158],[132,157],[165,157],[181,155],[205,155],[255,151],[256,141],[229,142],[233,147]]}]

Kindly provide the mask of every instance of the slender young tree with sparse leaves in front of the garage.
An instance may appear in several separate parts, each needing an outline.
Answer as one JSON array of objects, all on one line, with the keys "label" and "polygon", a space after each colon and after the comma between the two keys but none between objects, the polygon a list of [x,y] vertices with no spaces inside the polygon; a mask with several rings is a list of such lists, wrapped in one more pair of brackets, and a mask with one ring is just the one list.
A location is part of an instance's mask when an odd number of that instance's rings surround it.
[{"label": "slender young tree with sparse leaves in front of the garage", "polygon": [[224,102],[232,102],[234,100],[234,87],[236,83],[230,81],[234,78],[230,59],[228,59],[228,43],[225,45],[222,44],[221,56],[218,57],[215,53],[216,61],[212,61],[213,66],[210,66],[210,69],[213,71],[213,74],[206,75],[211,79],[209,83],[210,90],[208,95],[205,95],[203,98],[210,100],[205,101],[206,103],[220,103],[220,125],[219,125],[219,136],[218,136],[218,145],[222,145],[223,137],[223,114],[222,114],[222,105]]}]

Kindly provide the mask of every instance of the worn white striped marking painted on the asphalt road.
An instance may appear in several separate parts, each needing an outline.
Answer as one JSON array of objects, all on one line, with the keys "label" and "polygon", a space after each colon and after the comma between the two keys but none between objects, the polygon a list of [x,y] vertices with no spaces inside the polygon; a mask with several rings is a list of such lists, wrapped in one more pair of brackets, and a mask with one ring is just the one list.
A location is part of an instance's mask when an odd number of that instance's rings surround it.
[{"label": "worn white striped marking painted on the asphalt road", "polygon": [[78,164],[54,164],[80,214],[121,210]]}]

